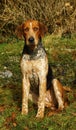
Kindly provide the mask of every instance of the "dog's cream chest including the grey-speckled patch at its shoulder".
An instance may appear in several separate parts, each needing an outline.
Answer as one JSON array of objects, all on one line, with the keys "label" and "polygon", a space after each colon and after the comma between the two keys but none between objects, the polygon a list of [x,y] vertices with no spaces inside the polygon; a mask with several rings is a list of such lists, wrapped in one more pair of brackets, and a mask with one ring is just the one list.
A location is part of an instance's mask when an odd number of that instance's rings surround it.
[{"label": "dog's cream chest including the grey-speckled patch at its shoulder", "polygon": [[48,71],[48,59],[45,51],[41,48],[37,53],[24,54],[21,59],[21,71],[25,79],[29,79],[33,91],[38,92],[39,84],[43,81]]}]

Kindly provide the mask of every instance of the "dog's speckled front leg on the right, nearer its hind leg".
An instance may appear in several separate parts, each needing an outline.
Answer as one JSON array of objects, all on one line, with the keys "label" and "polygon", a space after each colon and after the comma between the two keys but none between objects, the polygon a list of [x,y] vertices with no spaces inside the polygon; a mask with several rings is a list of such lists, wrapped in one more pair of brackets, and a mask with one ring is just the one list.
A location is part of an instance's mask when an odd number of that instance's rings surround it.
[{"label": "dog's speckled front leg on the right, nearer its hind leg", "polygon": [[39,100],[38,100],[38,112],[36,117],[43,118],[45,110],[45,93],[46,93],[46,78],[40,79],[39,86]]}]

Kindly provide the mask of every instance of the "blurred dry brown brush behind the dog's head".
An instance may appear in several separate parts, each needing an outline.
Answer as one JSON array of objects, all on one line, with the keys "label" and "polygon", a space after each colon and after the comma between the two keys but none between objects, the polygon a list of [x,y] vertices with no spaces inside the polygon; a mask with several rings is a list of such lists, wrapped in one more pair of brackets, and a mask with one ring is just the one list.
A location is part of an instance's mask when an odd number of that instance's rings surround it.
[{"label": "blurred dry brown brush behind the dog's head", "polygon": [[76,32],[76,0],[0,0],[0,43],[27,19],[43,22],[50,34],[71,37]]}]

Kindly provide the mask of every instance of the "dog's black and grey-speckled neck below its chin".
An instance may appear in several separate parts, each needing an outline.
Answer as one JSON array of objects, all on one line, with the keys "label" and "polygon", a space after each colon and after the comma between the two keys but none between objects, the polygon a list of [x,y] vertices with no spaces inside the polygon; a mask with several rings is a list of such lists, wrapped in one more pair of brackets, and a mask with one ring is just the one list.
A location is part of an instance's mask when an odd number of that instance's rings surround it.
[{"label": "dog's black and grey-speckled neck below its chin", "polygon": [[22,56],[27,60],[36,60],[46,55],[45,49],[41,42],[32,50],[28,45],[24,45]]}]

